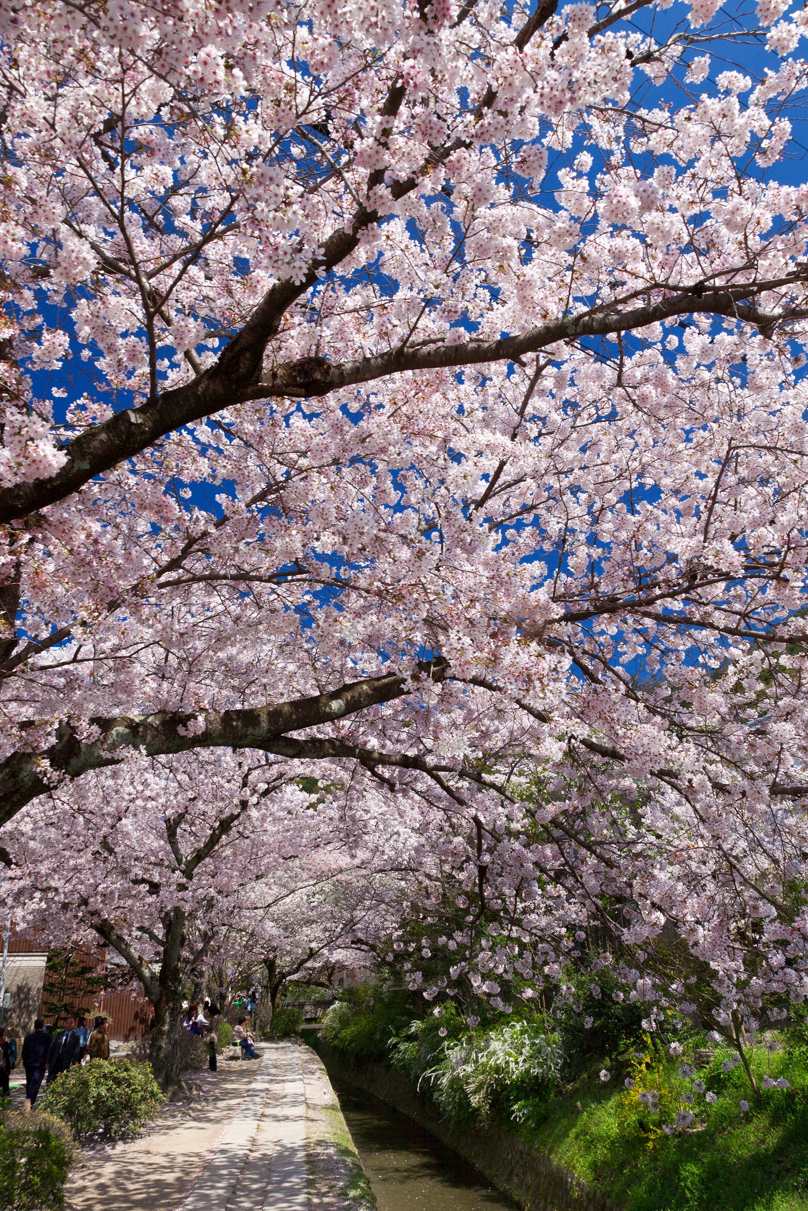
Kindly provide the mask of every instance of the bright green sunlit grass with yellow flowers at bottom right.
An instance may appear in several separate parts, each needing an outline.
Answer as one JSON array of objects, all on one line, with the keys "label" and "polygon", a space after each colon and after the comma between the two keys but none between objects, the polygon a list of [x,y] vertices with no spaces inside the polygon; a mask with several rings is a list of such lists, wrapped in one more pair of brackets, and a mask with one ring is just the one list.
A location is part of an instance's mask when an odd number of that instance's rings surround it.
[{"label": "bright green sunlit grass with yellow flowers at bottom right", "polygon": [[[678,1108],[677,1091],[690,1086],[666,1063],[634,1094],[623,1085],[626,1071],[615,1068],[608,1084],[584,1074],[525,1135],[626,1211],[808,1211],[808,1052],[756,1051],[758,1079],[768,1073],[791,1083],[789,1090],[762,1090],[758,1102],[743,1068],[721,1071],[729,1054],[718,1051],[697,1073],[718,1101],[710,1106],[697,1095],[695,1107],[684,1107],[697,1110],[689,1132],[660,1131]],[[643,1084],[660,1090],[655,1115],[637,1101]],[[750,1102],[747,1113],[740,1098]]]}]

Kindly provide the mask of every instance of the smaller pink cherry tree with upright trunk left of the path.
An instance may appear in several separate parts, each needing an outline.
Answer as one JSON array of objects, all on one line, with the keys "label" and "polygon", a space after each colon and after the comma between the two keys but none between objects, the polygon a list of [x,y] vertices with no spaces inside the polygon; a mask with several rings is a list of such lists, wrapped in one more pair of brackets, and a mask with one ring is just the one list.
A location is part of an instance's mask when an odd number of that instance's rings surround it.
[{"label": "smaller pink cherry tree with upright trunk left of the path", "polygon": [[[16,922],[121,957],[154,1006],[150,1058],[166,1087],[180,1083],[185,989],[208,970],[297,953],[288,977],[373,916],[378,842],[344,796],[313,807],[297,781],[260,753],[141,757],[7,830]],[[53,844],[55,811],[68,845]]]}]

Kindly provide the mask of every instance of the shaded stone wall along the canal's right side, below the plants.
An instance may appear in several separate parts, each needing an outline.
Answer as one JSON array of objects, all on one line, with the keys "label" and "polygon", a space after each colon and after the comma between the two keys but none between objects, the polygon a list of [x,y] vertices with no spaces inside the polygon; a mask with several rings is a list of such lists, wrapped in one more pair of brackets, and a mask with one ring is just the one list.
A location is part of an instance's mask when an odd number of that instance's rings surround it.
[{"label": "shaded stone wall along the canal's right side, below the plants", "polygon": [[555,1165],[533,1144],[503,1127],[453,1126],[420,1096],[403,1073],[373,1061],[348,1060],[315,1043],[328,1075],[356,1085],[414,1119],[486,1177],[525,1211],[620,1211],[580,1177]]}]

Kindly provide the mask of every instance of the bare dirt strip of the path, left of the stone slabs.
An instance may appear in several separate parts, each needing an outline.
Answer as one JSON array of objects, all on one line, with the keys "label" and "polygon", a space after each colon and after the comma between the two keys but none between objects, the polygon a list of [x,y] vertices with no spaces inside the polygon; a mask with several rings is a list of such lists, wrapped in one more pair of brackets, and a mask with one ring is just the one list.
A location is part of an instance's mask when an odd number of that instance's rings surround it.
[{"label": "bare dirt strip of the path, left of the stone slabs", "polygon": [[202,1092],[171,1104],[143,1135],[84,1154],[70,1175],[69,1211],[176,1211],[214,1153],[258,1064],[225,1061],[200,1074]]}]

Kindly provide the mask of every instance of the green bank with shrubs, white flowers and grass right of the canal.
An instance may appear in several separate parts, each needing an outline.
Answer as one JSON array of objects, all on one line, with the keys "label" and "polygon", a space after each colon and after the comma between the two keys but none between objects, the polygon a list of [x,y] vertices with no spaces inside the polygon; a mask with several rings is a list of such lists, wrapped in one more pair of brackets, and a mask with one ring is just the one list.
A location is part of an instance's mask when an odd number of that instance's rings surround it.
[{"label": "green bank with shrubs, white flowers and grass right of the canal", "polygon": [[457,1125],[518,1132],[625,1211],[808,1211],[804,1022],[745,1049],[756,1097],[738,1052],[704,1031],[624,1034],[596,1058],[585,1027],[577,1039],[515,1018],[470,1029],[447,1005],[407,1022],[377,992],[336,1006],[323,1037],[392,1064]]}]

